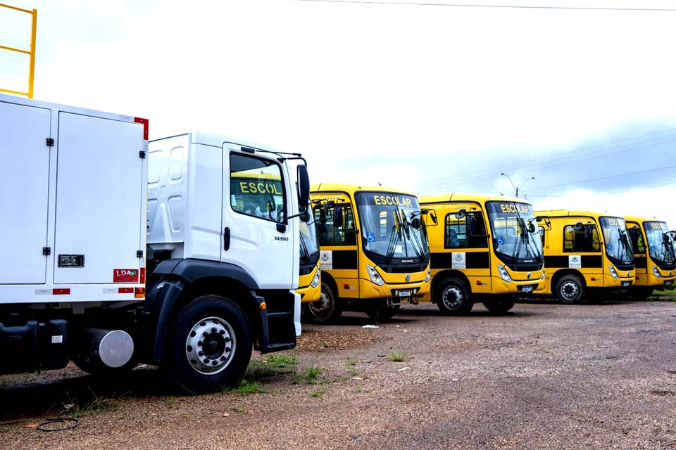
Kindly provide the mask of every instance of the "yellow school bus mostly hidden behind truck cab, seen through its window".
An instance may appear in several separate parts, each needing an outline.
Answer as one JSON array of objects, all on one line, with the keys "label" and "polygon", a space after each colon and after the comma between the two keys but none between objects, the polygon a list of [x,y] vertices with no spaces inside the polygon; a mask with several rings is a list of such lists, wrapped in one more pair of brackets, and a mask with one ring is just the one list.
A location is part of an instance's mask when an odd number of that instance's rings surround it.
[{"label": "yellow school bus mostly hidden behind truck cab, seen through its window", "polygon": [[[232,194],[242,201],[243,207],[261,217],[276,217],[282,214],[277,205],[282,205],[282,180],[265,174],[247,176],[246,172],[237,174],[238,182],[232,184]],[[261,193],[265,195],[261,195]],[[315,302],[321,297],[319,242],[311,212],[308,221],[300,221],[300,265],[299,281],[296,293],[301,295],[302,303]]]}]

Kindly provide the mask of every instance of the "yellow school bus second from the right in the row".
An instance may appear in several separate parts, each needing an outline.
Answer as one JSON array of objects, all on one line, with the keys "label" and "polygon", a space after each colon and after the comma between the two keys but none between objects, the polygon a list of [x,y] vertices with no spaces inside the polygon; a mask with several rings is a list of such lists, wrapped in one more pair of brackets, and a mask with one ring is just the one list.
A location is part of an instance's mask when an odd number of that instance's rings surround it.
[{"label": "yellow school bus second from the right in the row", "polygon": [[[634,283],[634,252],[625,219],[592,211],[536,211],[545,285],[537,294],[580,302],[589,289],[618,293]],[[601,291],[602,292],[602,291]]]}]

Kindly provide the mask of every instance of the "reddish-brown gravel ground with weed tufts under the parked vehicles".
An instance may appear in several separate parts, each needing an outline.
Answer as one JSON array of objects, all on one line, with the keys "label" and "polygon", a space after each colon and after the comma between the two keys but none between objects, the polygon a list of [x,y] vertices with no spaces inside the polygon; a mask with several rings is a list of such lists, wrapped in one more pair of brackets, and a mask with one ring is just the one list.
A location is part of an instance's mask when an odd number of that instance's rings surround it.
[{"label": "reddish-brown gravel ground with weed tufts under the parked vehicles", "polygon": [[[183,397],[146,366],[1,376],[0,449],[676,448],[674,302],[421,304],[368,323],[304,326],[295,365],[256,355],[256,394]],[[79,427],[35,428],[64,409]]]}]

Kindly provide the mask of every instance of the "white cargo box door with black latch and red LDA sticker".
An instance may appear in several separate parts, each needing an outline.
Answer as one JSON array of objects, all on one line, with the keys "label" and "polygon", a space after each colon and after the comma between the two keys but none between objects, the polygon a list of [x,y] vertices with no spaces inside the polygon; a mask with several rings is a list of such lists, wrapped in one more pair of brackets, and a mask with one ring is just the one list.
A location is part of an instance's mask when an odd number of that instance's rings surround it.
[{"label": "white cargo box door with black latch and red LDA sticker", "polygon": [[[59,113],[54,283],[113,283],[116,272],[138,274],[142,145],[142,124]],[[75,259],[64,261],[68,255]]]}]

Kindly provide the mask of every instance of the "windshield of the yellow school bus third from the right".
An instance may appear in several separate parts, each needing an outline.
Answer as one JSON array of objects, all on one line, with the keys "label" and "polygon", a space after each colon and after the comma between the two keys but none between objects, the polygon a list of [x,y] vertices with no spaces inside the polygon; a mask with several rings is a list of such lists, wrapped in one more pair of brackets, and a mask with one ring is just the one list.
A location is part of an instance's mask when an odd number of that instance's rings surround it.
[{"label": "windshield of the yellow school bus third from the right", "polygon": [[[533,207],[527,203],[487,202],[493,229],[493,248],[514,260],[542,261],[542,243],[534,225]],[[476,233],[476,232],[475,232]]]}]

